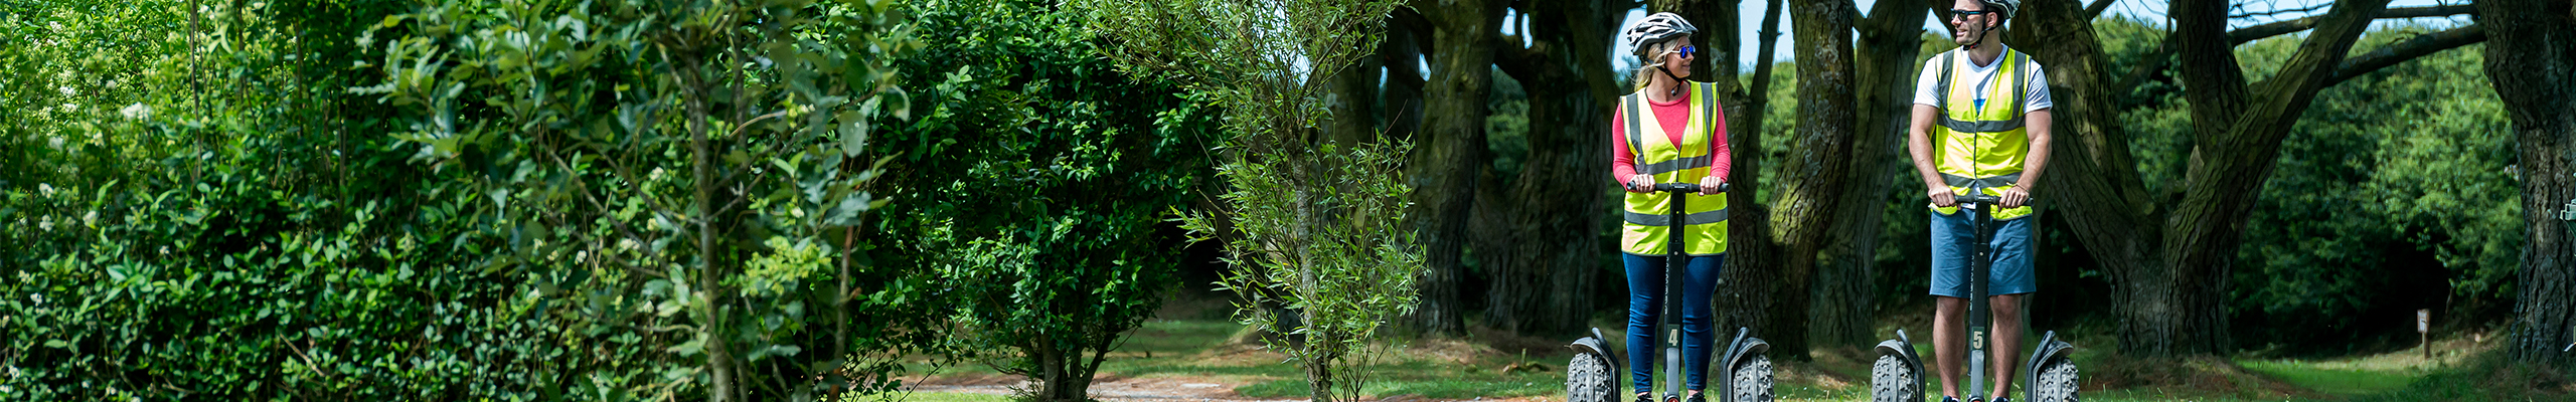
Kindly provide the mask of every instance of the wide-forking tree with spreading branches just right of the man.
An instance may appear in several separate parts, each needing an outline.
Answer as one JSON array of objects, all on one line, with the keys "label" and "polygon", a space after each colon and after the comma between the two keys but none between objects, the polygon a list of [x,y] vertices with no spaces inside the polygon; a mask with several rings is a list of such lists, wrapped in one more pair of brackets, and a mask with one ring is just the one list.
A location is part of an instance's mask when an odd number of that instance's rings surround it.
[{"label": "wide-forking tree with spreading branches just right of the man", "polygon": [[[2409,41],[2385,54],[2344,54],[2385,8],[2378,0],[2336,3],[2321,18],[2285,21],[2287,31],[2316,28],[2298,52],[2262,82],[2246,82],[2236,39],[2272,31],[2226,31],[2223,0],[2177,0],[2166,36],[2179,57],[2179,82],[2190,100],[2195,157],[2184,191],[2148,193],[2117,124],[2123,103],[2094,39],[2092,15],[2074,0],[2025,3],[2007,44],[2048,64],[2061,137],[2043,198],[2066,214],[2076,237],[2112,276],[2120,314],[2120,350],[2133,356],[2208,356],[2233,348],[2226,294],[2236,245],[2280,144],[2300,111],[2326,85],[2393,62],[2460,46],[2465,41]],[[2414,13],[2391,13],[2414,15]],[[2159,70],[2151,62],[2141,70]],[[2143,77],[2143,75],[2130,75]]]}]

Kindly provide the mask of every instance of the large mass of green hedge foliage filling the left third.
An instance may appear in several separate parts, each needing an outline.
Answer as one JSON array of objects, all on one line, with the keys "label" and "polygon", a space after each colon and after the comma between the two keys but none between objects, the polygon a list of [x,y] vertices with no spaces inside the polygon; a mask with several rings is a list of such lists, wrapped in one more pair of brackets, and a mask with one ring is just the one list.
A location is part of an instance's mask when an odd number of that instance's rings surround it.
[{"label": "large mass of green hedge foliage filling the left third", "polygon": [[925,345],[837,258],[891,3],[191,5],[0,8],[0,399],[788,399]]}]

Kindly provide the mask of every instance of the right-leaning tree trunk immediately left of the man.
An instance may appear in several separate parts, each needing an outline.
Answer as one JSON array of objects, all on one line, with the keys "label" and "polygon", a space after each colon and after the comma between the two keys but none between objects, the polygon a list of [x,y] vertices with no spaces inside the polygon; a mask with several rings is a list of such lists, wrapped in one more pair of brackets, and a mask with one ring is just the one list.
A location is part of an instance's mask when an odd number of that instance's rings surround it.
[{"label": "right-leaning tree trunk immediately left of the man", "polygon": [[1816,304],[1811,314],[1816,345],[1870,348],[1873,268],[1878,265],[1880,219],[1888,188],[1904,160],[1906,121],[1914,111],[1914,59],[1922,52],[1924,3],[1883,0],[1860,23],[1860,142],[1852,144],[1850,191],[1832,209],[1834,237],[1826,260],[1816,265]]}]

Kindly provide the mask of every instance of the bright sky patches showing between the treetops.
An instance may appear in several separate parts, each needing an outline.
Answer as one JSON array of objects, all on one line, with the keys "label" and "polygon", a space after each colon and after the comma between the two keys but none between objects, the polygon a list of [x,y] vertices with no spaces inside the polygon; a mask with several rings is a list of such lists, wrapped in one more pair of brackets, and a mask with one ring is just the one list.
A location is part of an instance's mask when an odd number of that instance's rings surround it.
[{"label": "bright sky patches showing between the treetops", "polygon": [[[1868,13],[1878,0],[1855,0],[1855,3],[1860,5],[1860,13]],[[2092,3],[2092,0],[2084,0],[2084,3]],[[2324,3],[2331,3],[2331,0],[2239,0],[2241,10],[2236,10],[2236,13],[2300,10],[2300,8],[2313,8],[2313,5],[2324,5]],[[2445,3],[2450,3],[2450,5],[2465,5],[2468,0],[2391,0],[2388,8],[2427,8],[2427,5],[2445,5]],[[1741,21],[1736,26],[1744,31],[1741,34],[1744,46],[1736,52],[1736,54],[1744,54],[1744,57],[1739,57],[1739,62],[1744,62],[1741,70],[1752,70],[1752,62],[1754,62],[1752,57],[1762,46],[1762,41],[1754,41],[1757,39],[1754,28],[1762,26],[1762,8],[1767,8],[1762,0],[1744,0],[1744,10],[1736,13],[1736,15],[1741,15]],[[2105,13],[2107,15],[2143,18],[2148,23],[2154,23],[2154,26],[2164,26],[2164,21],[2166,21],[2166,15],[2164,15],[2164,0],[2117,0]],[[2321,15],[2321,13],[2326,13],[2326,8],[2308,10],[2308,13],[2280,13],[2280,15],[2259,15],[2259,18],[2236,18],[2236,21],[2228,21],[2228,26],[2231,28],[2244,28],[2244,26],[2287,21],[2287,18],[2306,18],[2306,15]],[[1504,26],[1502,31],[1512,34],[1515,26],[1517,26],[1512,18],[1517,18],[1517,15],[1504,15],[1504,18],[1507,21],[1502,23]],[[1646,18],[1643,8],[1628,10],[1628,18],[1620,21],[1620,26],[1625,28],[1625,26],[1641,21],[1641,18]],[[1940,21],[1935,21],[1935,18],[1937,15],[1924,15],[1924,31],[1947,34],[1940,26]],[[1713,23],[1698,23],[1698,21],[1692,21],[1692,23],[1700,26],[1700,28],[1710,28],[1713,26]],[[2406,21],[2378,21],[2378,23],[2372,23],[2372,28],[2383,28],[2383,26],[2391,26],[2391,23],[2406,23]],[[2414,18],[2414,23],[2445,23],[2445,18]],[[2455,15],[2447,23],[2468,23],[2468,15]],[[1772,49],[1772,57],[1775,57],[1775,62],[1790,62],[1793,52],[1788,52],[1788,49],[1793,49],[1795,39],[1788,34],[1790,31],[1790,15],[1785,10],[1780,13],[1780,31],[1783,31],[1780,34],[1780,44],[1777,44],[1777,49]],[[1636,64],[1636,57],[1628,57],[1628,46],[1613,44],[1610,52],[1613,52],[1610,59],[1613,59],[1613,64],[1618,70],[1631,70]]]}]

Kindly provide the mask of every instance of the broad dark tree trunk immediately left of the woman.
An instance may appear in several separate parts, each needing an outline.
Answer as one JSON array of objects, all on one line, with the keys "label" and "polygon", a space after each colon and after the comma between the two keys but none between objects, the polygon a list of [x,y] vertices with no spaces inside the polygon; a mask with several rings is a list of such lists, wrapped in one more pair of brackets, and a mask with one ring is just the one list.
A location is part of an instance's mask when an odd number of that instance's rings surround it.
[{"label": "broad dark tree trunk immediately left of the woman", "polygon": [[1530,46],[1497,41],[1494,62],[1530,93],[1530,152],[1512,188],[1486,191],[1479,206],[1499,201],[1507,242],[1479,240],[1479,255],[1497,276],[1486,322],[1520,335],[1574,335],[1592,320],[1600,281],[1602,188],[1610,186],[1610,36],[1618,31],[1607,0],[1540,3]]}]

